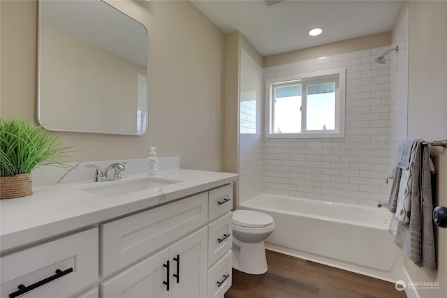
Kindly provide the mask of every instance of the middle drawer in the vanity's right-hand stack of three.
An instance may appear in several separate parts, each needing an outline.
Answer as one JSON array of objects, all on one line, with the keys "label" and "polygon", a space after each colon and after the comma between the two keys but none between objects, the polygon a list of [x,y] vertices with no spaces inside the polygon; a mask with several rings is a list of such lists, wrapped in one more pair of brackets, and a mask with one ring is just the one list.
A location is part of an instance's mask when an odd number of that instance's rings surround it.
[{"label": "middle drawer in the vanity's right-hand stack of three", "polygon": [[208,267],[231,249],[233,216],[230,212],[208,225]]}]

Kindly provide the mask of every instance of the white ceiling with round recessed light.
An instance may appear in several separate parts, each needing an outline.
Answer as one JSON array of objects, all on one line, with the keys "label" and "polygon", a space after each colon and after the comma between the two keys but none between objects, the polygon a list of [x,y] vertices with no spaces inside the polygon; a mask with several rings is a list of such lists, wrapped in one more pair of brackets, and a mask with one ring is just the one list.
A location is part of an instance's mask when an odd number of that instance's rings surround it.
[{"label": "white ceiling with round recessed light", "polygon": [[[268,6],[268,3],[277,4]],[[402,1],[191,0],[223,33],[240,31],[263,55],[393,29]],[[320,36],[309,36],[320,27]]]}]

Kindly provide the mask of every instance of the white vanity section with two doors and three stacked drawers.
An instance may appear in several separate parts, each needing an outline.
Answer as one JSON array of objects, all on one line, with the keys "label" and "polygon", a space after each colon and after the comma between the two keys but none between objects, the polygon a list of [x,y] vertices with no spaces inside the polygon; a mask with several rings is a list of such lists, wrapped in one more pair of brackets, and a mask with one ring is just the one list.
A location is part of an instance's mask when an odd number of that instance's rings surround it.
[{"label": "white vanity section with two doors and three stacked drawers", "polygon": [[101,225],[101,298],[223,297],[231,285],[232,196],[228,184]]}]

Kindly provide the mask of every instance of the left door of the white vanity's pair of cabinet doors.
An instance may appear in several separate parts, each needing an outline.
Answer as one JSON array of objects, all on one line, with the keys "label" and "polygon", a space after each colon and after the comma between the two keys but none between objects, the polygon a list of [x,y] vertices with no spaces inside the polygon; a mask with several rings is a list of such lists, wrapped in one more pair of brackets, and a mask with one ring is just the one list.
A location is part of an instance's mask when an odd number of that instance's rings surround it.
[{"label": "left door of the white vanity's pair of cabinet doors", "polygon": [[101,298],[167,298],[168,248],[101,283]]}]

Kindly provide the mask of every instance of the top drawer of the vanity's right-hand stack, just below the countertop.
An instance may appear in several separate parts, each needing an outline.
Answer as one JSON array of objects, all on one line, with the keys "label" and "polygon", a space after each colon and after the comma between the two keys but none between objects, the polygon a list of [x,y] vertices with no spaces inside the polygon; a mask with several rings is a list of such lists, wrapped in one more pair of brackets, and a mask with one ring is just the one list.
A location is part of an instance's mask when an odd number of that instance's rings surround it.
[{"label": "top drawer of the vanity's right-hand stack, just below the countertop", "polygon": [[212,191],[208,195],[210,208],[210,221],[219,216],[223,216],[233,207],[233,184],[222,186]]}]

